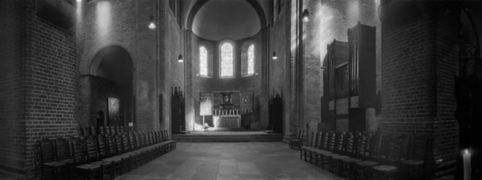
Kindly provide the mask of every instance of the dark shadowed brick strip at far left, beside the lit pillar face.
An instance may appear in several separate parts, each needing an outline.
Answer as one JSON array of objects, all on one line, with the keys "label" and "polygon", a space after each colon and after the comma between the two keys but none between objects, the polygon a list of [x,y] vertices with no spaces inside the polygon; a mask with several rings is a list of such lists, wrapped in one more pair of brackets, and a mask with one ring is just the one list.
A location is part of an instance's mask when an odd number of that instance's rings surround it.
[{"label": "dark shadowed brick strip at far left, beside the lit pillar face", "polygon": [[[21,62],[23,1],[0,1],[0,177],[25,174],[25,124],[22,121]],[[6,28],[8,27],[8,28]]]}]

